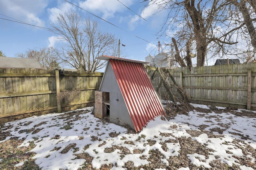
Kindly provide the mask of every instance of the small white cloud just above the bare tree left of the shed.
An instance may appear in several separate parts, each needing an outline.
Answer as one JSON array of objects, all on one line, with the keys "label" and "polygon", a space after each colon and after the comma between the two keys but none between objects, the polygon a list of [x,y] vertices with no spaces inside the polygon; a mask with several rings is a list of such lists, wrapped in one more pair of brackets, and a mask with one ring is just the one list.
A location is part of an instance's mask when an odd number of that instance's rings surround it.
[{"label": "small white cloud just above the bare tree left of the shed", "polygon": [[56,7],[50,8],[48,9],[50,13],[49,20],[52,23],[55,23],[57,21],[57,17],[59,16],[59,14],[64,14],[65,12],[69,12],[70,10],[73,10],[73,9],[74,9],[74,6],[72,6],[69,3],[60,4],[58,8]]}]

